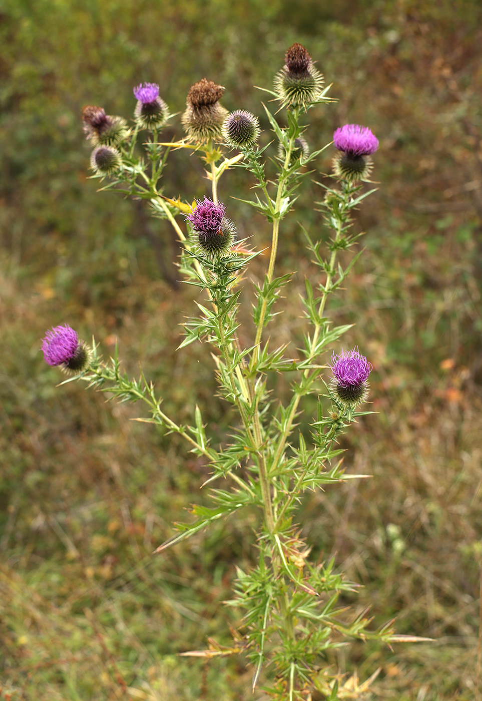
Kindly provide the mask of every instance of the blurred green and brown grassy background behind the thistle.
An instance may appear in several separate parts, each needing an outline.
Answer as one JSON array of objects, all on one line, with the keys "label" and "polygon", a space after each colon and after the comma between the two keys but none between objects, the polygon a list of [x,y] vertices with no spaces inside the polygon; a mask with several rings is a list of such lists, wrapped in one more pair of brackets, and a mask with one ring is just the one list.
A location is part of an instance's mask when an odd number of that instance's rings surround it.
[{"label": "blurred green and brown grassy background behind the thistle", "polygon": [[[482,6],[477,0],[4,0],[0,12],[0,687],[13,701],[245,700],[245,661],[177,657],[230,639],[221,602],[233,563],[254,557],[252,521],[232,519],[151,557],[207,468],[176,437],[133,423],[137,407],[69,384],[39,353],[62,322],[116,338],[181,421],[199,402],[214,439],[230,416],[207,348],[174,354],[193,293],[174,289],[167,223],[96,193],[84,104],[132,114],[132,86],[158,81],[173,111],[202,76],[223,104],[263,118],[284,51],[303,43],[338,102],[312,111],[313,148],[347,121],[380,139],[376,196],[357,229],[364,256],[336,320],[374,365],[373,408],[345,437],[348,471],[373,475],[307,497],[313,557],[364,587],[352,603],[429,645],[352,646],[333,665],[382,672],[397,700],[472,700],[476,684],[482,485]],[[310,115],[310,116],[311,116]],[[175,122],[175,120],[174,120]],[[165,132],[180,136],[179,122]],[[317,163],[329,172],[330,156]],[[172,154],[166,193],[207,192],[202,164]],[[319,175],[316,179],[320,179]],[[280,270],[297,270],[273,340],[299,337],[310,266],[298,221],[326,237],[306,184],[284,223]],[[228,173],[221,197],[244,193]],[[245,196],[241,194],[241,196]],[[229,200],[242,236],[261,219]],[[250,269],[256,280],[261,262]],[[246,342],[249,342],[249,327]],[[283,391],[283,388],[281,388]],[[308,411],[310,407],[307,407]],[[307,426],[302,426],[306,429]],[[375,624],[374,624],[375,625]],[[261,693],[254,695],[261,698]]]}]

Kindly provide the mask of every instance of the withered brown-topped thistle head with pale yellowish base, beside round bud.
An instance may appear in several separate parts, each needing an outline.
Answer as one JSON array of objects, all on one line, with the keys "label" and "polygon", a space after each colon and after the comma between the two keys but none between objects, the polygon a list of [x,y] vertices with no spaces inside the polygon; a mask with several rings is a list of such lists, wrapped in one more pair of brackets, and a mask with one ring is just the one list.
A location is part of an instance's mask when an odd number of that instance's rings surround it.
[{"label": "withered brown-topped thistle head with pale yellowish base, beside round bud", "polygon": [[221,141],[223,123],[228,110],[221,107],[218,100],[224,88],[213,81],[202,78],[191,86],[186,100],[186,111],[181,122],[188,137],[200,143],[210,139]]}]

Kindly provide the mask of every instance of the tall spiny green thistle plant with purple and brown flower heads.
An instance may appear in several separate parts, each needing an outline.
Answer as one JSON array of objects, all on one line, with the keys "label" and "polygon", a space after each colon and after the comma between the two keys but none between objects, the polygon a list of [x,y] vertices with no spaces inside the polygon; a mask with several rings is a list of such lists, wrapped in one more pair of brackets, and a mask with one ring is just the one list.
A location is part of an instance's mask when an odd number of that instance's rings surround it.
[{"label": "tall spiny green thistle plant with purple and brown flower heads", "polygon": [[[177,524],[176,532],[156,553],[234,512],[247,507],[258,510],[257,563],[247,571],[237,569],[233,598],[227,602],[239,614],[239,629],[232,646],[211,642],[212,649],[205,655],[247,655],[253,690],[260,686],[279,701],[308,701],[315,691],[318,697],[333,701],[359,697],[377,671],[362,683],[356,675],[347,679],[343,669],[333,666],[330,651],[350,639],[385,644],[414,640],[395,635],[390,624],[372,630],[366,615],[354,616],[338,606],[340,595],[354,592],[356,585],[336,569],[334,559],[310,561],[310,547],[297,524],[305,492],[331,489],[359,477],[344,474],[338,439],[359,416],[370,413],[361,404],[368,395],[372,368],[358,349],[340,349],[340,338],[350,325],[334,325],[327,308],[359,256],[354,254],[346,266],[338,259],[339,252],[350,252],[360,236],[352,230],[352,212],[374,192],[364,189],[363,181],[378,140],[359,125],[345,125],[335,132],[339,154],[333,174],[318,183],[319,207],[331,238],[324,243],[319,232],[306,232],[308,255],[318,274],[305,280],[303,344],[295,356],[288,354],[285,346],[276,347],[270,341],[270,321],[291,278],[276,275],[278,236],[303,180],[315,170],[319,154],[331,147],[310,152],[304,138],[310,109],[329,104],[331,98],[330,86],[323,88],[321,74],[300,44],[287,50],[273,87],[266,93],[278,103],[280,116],[263,105],[273,131],[272,141],[263,147],[258,144],[259,119],[244,109],[229,114],[219,104],[224,89],[204,78],[188,92],[181,117],[186,137],[179,141],[160,139],[160,129],[171,116],[155,83],[134,89],[137,105],[130,128],[123,118],[108,117],[100,107],[83,111],[86,134],[95,146],[93,177],[109,178],[103,189],[146,200],[152,214],[167,219],[179,236],[183,247],[179,269],[186,283],[199,288],[198,313],[186,322],[179,351],[198,341],[213,349],[219,391],[233,407],[232,430],[221,446],[212,445],[209,424],[199,407],[189,426],[167,416],[144,374],[130,379],[121,372],[117,348],[114,357],[105,361],[95,343],[87,349],[65,326],[47,333],[43,351],[50,365],[76,372],[66,381],[81,379],[118,400],[145,402],[150,413],[143,421],[179,434],[193,454],[209,464],[206,484],[212,505],[195,505],[191,521]],[[310,140],[315,142],[315,137],[311,135]],[[201,156],[207,165],[211,192],[194,203],[187,193],[184,199],[172,198],[168,186],[164,189],[160,184],[170,150],[179,148]],[[249,284],[242,273],[258,253],[246,252],[237,242],[235,224],[226,215],[229,200],[219,201],[219,182],[228,168],[247,171],[247,188],[254,181],[254,197],[242,201],[266,217],[272,230],[266,274],[254,289],[253,325],[243,329],[243,338],[252,339],[247,346],[240,343],[237,330],[242,285]],[[268,392],[268,372],[275,377],[289,374],[288,400],[276,395],[276,386]],[[305,414],[306,397],[316,398],[314,416]],[[310,424],[309,440],[296,430],[302,416]]]}]

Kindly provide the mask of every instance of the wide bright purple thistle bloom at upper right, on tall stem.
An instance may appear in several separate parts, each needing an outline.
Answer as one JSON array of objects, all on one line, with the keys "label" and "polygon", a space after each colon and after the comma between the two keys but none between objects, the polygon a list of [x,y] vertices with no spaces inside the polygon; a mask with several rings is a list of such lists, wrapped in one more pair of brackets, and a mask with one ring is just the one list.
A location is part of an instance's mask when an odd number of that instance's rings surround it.
[{"label": "wide bright purple thistle bloom at upper right, on tall stem", "polygon": [[378,149],[378,139],[368,127],[345,124],[334,132],[333,142],[340,151],[333,159],[336,177],[348,182],[369,177],[373,168],[370,155]]}]

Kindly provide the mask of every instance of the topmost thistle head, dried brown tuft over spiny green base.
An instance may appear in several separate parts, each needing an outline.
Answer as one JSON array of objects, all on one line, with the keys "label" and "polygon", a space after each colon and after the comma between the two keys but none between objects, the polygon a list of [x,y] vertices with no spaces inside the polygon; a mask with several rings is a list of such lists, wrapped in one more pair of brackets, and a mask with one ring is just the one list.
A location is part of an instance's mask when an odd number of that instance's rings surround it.
[{"label": "topmost thistle head, dried brown tuft over spiny green base", "polygon": [[275,92],[284,107],[306,107],[316,102],[323,87],[323,76],[313,66],[304,46],[294,43],[284,56],[284,67],[275,76]]}]

